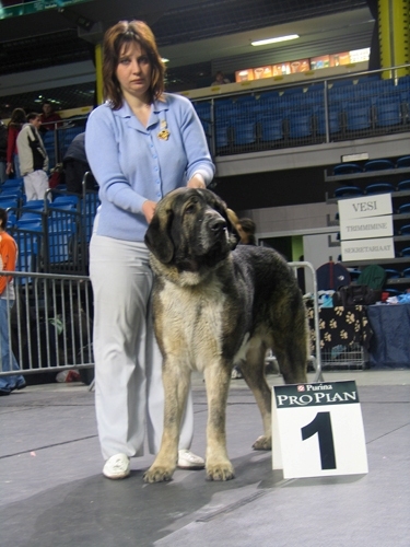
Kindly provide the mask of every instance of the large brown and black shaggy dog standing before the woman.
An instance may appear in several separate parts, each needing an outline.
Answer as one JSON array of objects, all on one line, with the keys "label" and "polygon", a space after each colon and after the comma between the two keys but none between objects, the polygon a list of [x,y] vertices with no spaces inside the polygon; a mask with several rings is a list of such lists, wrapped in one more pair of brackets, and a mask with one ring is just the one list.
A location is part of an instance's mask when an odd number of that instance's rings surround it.
[{"label": "large brown and black shaggy dog standing before the woman", "polygon": [[[164,433],[147,482],[171,480],[192,370],[208,396],[207,476],[229,480],[225,410],[234,362],[263,420],[254,449],[271,449],[271,389],[265,356],[272,349],[286,383],[306,382],[306,314],[285,260],[273,249],[238,245],[224,202],[210,190],[180,188],[162,199],[145,243],[155,272],[154,325],[164,358]],[[235,251],[233,251],[236,247]]]}]

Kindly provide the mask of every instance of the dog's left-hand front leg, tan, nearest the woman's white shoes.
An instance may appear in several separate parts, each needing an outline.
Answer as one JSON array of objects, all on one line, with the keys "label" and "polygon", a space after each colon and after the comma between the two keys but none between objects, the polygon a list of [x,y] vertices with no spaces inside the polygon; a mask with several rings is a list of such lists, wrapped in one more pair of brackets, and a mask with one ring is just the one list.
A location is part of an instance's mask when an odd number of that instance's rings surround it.
[{"label": "dog's left-hand front leg, tan, nearest the woman's white shoes", "polygon": [[171,480],[178,459],[180,422],[186,407],[190,371],[181,370],[178,364],[164,362],[162,373],[164,384],[164,431],[161,449],[154,463],[144,474],[145,482]]}]

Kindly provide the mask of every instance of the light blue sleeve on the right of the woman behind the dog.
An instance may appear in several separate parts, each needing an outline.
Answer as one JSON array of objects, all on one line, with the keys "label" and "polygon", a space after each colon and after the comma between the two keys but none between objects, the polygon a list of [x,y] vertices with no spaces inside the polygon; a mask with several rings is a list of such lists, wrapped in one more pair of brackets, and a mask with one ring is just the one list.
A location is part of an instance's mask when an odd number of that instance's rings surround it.
[{"label": "light blue sleeve on the right of the woman behind the dog", "polygon": [[215,173],[215,166],[209,152],[207,138],[194,106],[189,101],[184,105],[181,133],[185,150],[188,158],[187,175],[188,181],[194,174],[202,175],[208,186]]}]

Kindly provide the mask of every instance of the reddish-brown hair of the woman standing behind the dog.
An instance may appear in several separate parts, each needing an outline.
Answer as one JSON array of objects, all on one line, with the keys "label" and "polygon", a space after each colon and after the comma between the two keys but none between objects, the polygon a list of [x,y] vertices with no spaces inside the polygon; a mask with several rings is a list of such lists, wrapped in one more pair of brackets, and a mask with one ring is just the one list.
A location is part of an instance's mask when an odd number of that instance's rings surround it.
[{"label": "reddish-brown hair of the woman standing behind the dog", "polygon": [[159,54],[155,36],[142,21],[119,21],[105,33],[103,43],[104,97],[116,110],[122,105],[122,93],[116,71],[124,44],[136,42],[144,49],[151,63],[150,101],[160,98],[164,92],[165,66]]}]

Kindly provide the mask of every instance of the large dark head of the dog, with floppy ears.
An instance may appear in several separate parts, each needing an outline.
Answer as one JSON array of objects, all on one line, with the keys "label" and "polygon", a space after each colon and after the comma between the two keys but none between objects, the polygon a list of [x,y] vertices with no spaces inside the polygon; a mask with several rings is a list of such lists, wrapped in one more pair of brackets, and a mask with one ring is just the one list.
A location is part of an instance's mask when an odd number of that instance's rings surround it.
[{"label": "large dark head of the dog, with floppy ears", "polygon": [[191,272],[215,266],[238,241],[225,203],[212,191],[197,188],[167,194],[145,234],[148,248],[161,264]]}]

